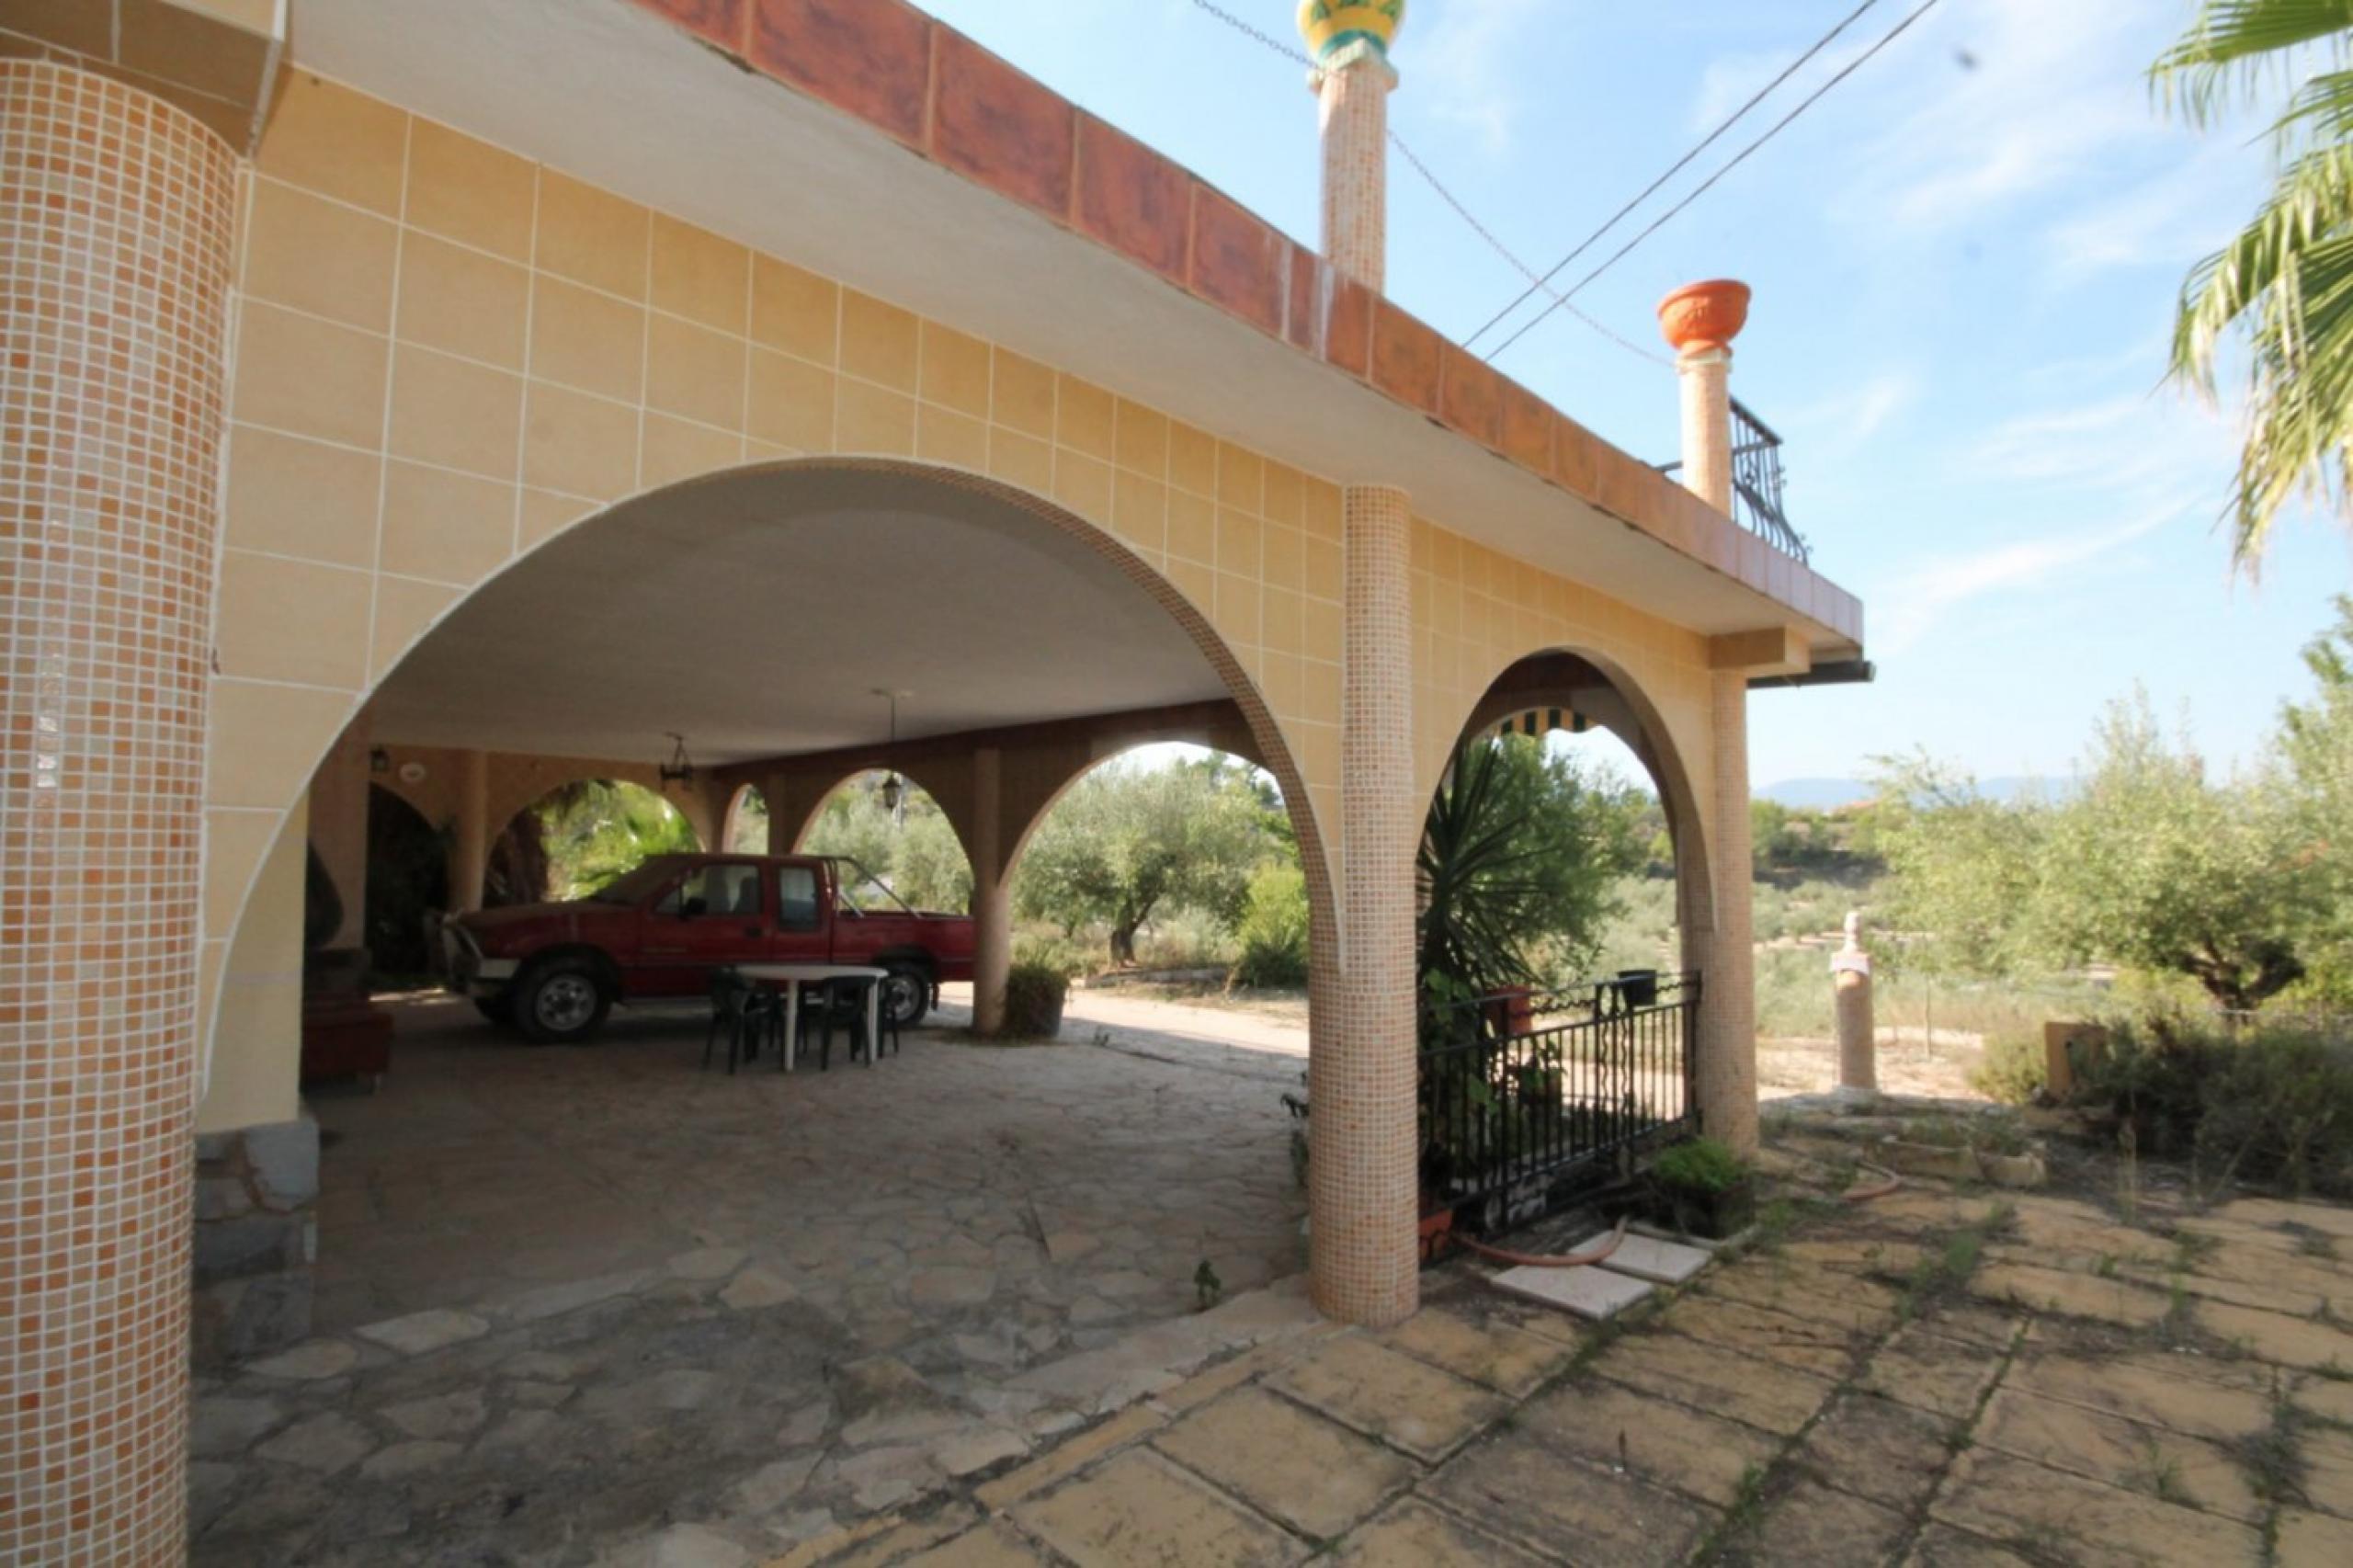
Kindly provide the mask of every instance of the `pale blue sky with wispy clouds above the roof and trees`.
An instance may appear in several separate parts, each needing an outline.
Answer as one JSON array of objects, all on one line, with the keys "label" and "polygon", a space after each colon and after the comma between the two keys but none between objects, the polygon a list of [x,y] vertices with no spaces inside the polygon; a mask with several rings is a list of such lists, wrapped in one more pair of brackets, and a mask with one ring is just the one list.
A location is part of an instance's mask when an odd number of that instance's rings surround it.
[{"label": "pale blue sky with wispy clouds above the roof and trees", "polygon": [[[1301,71],[1188,0],[922,5],[1313,242]],[[1412,0],[1393,125],[1544,268],[1852,5]],[[1882,0],[1621,233],[1913,5]],[[1289,0],[1226,7],[1294,38]],[[2151,101],[2146,64],[2191,12],[1941,0],[1579,294],[1647,346],[1666,290],[1755,287],[1734,391],[1786,438],[1791,518],[1861,593],[1880,666],[1873,687],[1758,695],[1758,786],[1913,746],[2061,777],[2134,683],[2238,760],[2304,690],[2297,650],[2353,589],[2353,534],[2292,520],[2261,584],[2233,584],[2231,417],[2160,386],[2181,273],[2266,172],[2257,120],[2200,134]],[[1522,285],[1393,160],[1400,304],[1461,339]],[[1621,447],[1675,454],[1673,372],[1567,313],[1497,363]]]}]

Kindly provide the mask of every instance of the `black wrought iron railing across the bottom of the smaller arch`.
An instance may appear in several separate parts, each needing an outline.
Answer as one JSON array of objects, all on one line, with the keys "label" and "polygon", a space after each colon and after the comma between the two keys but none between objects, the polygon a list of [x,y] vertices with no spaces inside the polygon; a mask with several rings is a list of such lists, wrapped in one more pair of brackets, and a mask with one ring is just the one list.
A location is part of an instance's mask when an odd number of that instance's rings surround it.
[{"label": "black wrought iron railing across the bottom of the smaller arch", "polygon": [[1515,1194],[1607,1175],[1624,1149],[1694,1132],[1697,1017],[1699,975],[1649,970],[1424,1017],[1426,1203],[1508,1205]]}]

